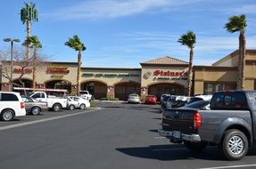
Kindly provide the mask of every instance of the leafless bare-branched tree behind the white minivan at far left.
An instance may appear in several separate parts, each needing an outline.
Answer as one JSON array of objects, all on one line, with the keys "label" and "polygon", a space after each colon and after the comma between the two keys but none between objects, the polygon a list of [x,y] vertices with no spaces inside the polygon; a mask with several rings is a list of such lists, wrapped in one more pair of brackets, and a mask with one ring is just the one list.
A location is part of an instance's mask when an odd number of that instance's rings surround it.
[{"label": "leafless bare-branched tree behind the white minivan at far left", "polygon": [[[2,62],[1,74],[4,78],[8,79],[12,85],[25,87],[25,83],[22,81],[22,77],[26,74],[26,69],[28,68],[42,68],[44,65],[45,57],[42,53],[37,54],[37,58],[27,57],[26,49],[24,48],[15,48],[13,50],[13,65],[20,68],[18,77],[19,83],[14,83],[11,78],[11,54],[10,52],[1,52],[0,61]],[[13,71],[13,70],[12,70]]]}]

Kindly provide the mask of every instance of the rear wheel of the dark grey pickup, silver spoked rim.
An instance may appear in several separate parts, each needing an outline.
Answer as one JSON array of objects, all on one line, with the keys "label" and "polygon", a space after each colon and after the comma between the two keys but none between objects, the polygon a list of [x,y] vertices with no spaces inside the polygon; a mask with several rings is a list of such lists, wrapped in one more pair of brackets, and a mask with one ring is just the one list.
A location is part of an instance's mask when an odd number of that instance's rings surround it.
[{"label": "rear wheel of the dark grey pickup, silver spoked rim", "polygon": [[248,147],[246,135],[236,129],[227,130],[219,145],[222,155],[229,160],[242,159],[246,155]]}]

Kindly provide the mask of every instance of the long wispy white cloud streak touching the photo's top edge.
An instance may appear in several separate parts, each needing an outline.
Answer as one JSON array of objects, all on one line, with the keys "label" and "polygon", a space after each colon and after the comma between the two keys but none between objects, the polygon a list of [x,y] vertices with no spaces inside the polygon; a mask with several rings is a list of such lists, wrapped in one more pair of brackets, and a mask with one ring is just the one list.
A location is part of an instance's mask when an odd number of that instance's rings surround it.
[{"label": "long wispy white cloud streak touching the photo's top edge", "polygon": [[108,19],[135,15],[149,10],[166,9],[195,4],[202,0],[91,0],[70,7],[64,7],[56,12],[43,15],[54,16],[61,20],[70,19]]}]

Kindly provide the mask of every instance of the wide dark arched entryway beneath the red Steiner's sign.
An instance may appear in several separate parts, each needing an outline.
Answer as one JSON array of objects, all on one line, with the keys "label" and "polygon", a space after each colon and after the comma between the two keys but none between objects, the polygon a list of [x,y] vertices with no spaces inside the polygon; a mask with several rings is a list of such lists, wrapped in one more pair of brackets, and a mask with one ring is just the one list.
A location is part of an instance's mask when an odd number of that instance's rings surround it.
[{"label": "wide dark arched entryway beneath the red Steiner's sign", "polygon": [[156,95],[158,101],[162,93],[169,93],[172,95],[184,95],[185,87],[182,84],[151,84],[148,86],[148,94]]}]

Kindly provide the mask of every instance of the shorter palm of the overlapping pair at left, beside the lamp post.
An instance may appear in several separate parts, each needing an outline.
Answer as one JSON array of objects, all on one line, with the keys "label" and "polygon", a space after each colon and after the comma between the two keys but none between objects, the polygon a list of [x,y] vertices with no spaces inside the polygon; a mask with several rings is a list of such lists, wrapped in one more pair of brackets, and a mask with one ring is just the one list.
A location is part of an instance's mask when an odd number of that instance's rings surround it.
[{"label": "shorter palm of the overlapping pair at left, beside the lamp post", "polygon": [[36,62],[37,62],[37,50],[39,48],[42,48],[42,44],[39,41],[39,38],[37,36],[29,36],[23,43],[23,45],[29,46],[34,49],[33,53],[33,89],[36,88]]}]

